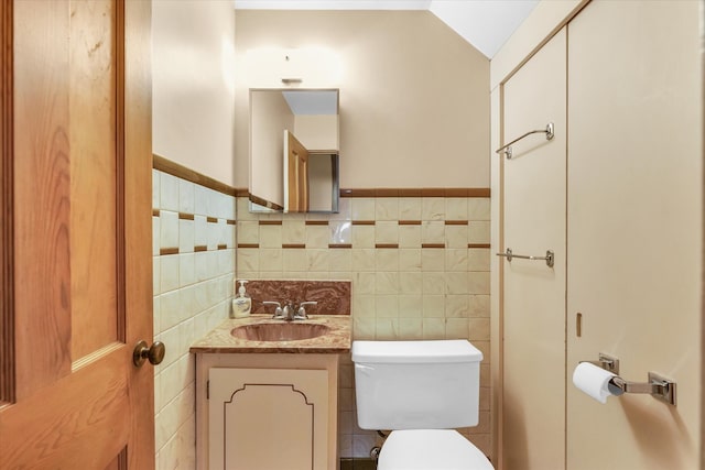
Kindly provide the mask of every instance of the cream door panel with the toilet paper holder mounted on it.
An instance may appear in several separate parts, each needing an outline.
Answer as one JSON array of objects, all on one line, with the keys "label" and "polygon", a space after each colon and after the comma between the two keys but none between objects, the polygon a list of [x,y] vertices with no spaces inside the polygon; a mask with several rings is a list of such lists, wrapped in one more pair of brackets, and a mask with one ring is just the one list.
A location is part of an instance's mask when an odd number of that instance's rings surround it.
[{"label": "cream door panel with the toilet paper holder mounted on it", "polygon": [[[593,1],[568,24],[567,369],[677,382],[567,391],[567,468],[699,468],[703,97],[696,1]],[[576,314],[583,314],[582,336]]]}]

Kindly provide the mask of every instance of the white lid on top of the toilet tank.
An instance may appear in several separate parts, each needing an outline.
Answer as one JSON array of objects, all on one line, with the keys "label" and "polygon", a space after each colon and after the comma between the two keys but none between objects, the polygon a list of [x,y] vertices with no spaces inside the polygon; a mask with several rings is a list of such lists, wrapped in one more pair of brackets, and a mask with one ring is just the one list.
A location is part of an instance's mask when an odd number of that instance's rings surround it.
[{"label": "white lid on top of the toilet tank", "polygon": [[352,341],[352,362],[480,362],[482,352],[464,339],[429,341]]}]

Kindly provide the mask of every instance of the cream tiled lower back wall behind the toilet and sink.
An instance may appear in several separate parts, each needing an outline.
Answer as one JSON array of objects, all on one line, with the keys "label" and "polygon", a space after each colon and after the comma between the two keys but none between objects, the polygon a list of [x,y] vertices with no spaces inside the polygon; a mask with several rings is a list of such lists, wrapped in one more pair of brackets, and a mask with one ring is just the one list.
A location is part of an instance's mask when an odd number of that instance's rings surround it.
[{"label": "cream tiled lower back wall behind the toilet and sink", "polygon": [[[471,340],[484,351],[480,425],[462,429],[490,451],[489,439],[489,198],[341,198],[336,215],[254,215],[238,200],[238,277],[352,281],[356,339]],[[282,220],[260,225],[260,220]],[[354,222],[364,223],[354,223]],[[456,222],[456,223],[453,223]],[[304,243],[284,249],[282,243]],[[329,244],[350,248],[329,248]],[[433,243],[444,248],[422,247]],[[387,248],[376,248],[388,245]],[[393,248],[398,245],[398,248]],[[392,248],[389,248],[392,247]],[[357,427],[349,357],[339,384],[340,457],[369,457],[380,439]]]}]

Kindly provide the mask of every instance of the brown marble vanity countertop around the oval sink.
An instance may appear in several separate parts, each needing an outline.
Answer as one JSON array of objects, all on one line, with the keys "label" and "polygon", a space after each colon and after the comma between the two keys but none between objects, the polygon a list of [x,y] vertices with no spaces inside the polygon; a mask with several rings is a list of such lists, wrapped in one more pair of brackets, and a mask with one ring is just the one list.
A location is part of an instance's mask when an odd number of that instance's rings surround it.
[{"label": "brown marble vanity countertop around the oval sink", "polygon": [[251,315],[246,318],[227,319],[191,346],[194,353],[340,353],[350,351],[349,315],[312,315],[297,324],[318,324],[330,328],[325,335],[292,341],[256,341],[234,337],[230,331],[239,326],[254,324],[282,324],[271,315]]}]

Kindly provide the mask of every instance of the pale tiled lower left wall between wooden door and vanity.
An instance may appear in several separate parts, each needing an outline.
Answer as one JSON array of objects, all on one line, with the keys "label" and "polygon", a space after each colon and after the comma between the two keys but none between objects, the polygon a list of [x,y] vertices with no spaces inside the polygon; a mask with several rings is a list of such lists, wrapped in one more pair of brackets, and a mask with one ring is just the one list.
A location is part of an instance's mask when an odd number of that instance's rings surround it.
[{"label": "pale tiled lower left wall between wooden door and vanity", "polygon": [[[152,178],[152,206],[159,210],[152,218],[154,335],[166,346],[154,370],[156,468],[194,469],[195,363],[188,348],[229,314],[236,226],[227,221],[235,220],[236,203],[160,171]],[[199,245],[207,251],[196,252]],[[164,249],[177,253],[161,255]]]}]

